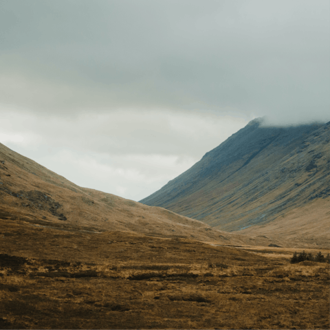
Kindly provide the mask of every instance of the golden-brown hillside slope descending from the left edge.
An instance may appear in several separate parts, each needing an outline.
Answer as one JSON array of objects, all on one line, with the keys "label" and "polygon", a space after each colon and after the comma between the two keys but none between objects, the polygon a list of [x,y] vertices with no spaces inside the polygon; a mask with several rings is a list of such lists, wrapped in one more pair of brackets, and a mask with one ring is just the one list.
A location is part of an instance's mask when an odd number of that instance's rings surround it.
[{"label": "golden-brown hillside slope descending from the left edge", "polygon": [[0,218],[46,227],[61,228],[65,223],[80,230],[119,230],[225,244],[250,243],[246,236],[219,232],[164,208],[76,186],[3,144],[0,144]]}]

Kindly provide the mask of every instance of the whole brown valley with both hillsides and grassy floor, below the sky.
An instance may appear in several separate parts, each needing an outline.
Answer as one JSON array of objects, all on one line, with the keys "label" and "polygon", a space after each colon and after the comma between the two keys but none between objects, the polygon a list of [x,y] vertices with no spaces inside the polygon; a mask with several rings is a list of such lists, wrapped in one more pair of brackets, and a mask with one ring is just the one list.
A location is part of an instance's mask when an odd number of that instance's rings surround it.
[{"label": "whole brown valley with both hillsides and grassy floor, below the sky", "polygon": [[0,329],[329,329],[330,263],[290,263],[330,253],[329,127],[252,122],[259,151],[221,144],[156,206],[0,144]]}]

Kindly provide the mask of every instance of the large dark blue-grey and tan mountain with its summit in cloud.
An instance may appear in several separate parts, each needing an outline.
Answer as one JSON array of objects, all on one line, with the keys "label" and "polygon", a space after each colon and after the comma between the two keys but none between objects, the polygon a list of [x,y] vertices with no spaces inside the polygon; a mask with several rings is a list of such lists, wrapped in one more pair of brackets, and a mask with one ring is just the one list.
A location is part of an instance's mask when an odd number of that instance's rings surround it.
[{"label": "large dark blue-grey and tan mountain with its summit in cloud", "polygon": [[330,122],[252,120],[142,199],[228,232],[329,243]]}]

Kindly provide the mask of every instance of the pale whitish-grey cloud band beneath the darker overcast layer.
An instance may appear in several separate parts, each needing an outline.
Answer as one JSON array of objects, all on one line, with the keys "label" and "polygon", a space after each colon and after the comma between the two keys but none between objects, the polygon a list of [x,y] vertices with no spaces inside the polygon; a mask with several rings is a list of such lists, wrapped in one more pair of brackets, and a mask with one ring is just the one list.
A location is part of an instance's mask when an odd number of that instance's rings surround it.
[{"label": "pale whitish-grey cloud band beneath the darker overcast layer", "polygon": [[21,135],[30,145],[42,141],[50,148],[71,148],[86,154],[175,155],[197,161],[247,122],[198,112],[112,111],[61,118],[11,109],[10,114],[2,115],[0,127],[1,133]]}]

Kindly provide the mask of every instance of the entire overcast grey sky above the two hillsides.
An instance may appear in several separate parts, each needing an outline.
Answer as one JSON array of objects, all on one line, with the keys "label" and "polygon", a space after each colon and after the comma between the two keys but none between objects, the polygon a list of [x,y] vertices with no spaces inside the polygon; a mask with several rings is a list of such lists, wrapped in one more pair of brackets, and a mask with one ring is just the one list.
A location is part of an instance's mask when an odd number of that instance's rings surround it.
[{"label": "entire overcast grey sky above the two hillsides", "polygon": [[330,120],[328,0],[0,0],[0,142],[138,201],[257,117]]}]

